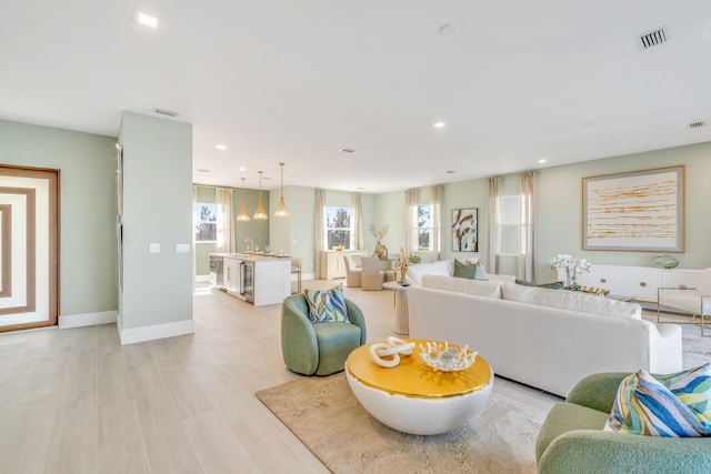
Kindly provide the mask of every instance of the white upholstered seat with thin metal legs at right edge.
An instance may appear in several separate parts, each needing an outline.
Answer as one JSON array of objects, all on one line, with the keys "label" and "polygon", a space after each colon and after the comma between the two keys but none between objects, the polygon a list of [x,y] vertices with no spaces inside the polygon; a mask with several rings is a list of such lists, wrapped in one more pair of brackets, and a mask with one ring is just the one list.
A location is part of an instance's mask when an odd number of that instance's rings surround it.
[{"label": "white upholstered seat with thin metal legs at right edge", "polygon": [[[704,334],[704,317],[711,316],[711,269],[703,269],[695,288],[660,288],[657,290],[657,322],[660,311],[673,309],[692,314],[693,323],[697,315],[701,320],[701,335]],[[674,321],[679,324],[679,321]]]}]

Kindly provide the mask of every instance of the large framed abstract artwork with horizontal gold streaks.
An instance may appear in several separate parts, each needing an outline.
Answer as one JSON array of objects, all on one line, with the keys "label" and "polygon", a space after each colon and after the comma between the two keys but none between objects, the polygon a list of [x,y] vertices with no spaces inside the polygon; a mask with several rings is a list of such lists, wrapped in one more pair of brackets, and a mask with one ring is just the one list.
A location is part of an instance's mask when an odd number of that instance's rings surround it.
[{"label": "large framed abstract artwork with horizontal gold streaks", "polygon": [[684,167],[582,179],[582,249],[684,251]]}]

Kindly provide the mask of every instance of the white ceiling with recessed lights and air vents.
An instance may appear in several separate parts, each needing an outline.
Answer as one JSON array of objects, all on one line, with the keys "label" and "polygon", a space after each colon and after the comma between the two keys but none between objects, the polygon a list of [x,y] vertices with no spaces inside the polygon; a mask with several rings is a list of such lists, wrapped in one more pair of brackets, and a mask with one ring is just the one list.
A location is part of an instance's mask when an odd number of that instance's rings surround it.
[{"label": "white ceiling with recessed lights and air vents", "polygon": [[2,119],[179,112],[202,184],[284,162],[378,193],[711,141],[709,0],[6,1],[0,64]]}]

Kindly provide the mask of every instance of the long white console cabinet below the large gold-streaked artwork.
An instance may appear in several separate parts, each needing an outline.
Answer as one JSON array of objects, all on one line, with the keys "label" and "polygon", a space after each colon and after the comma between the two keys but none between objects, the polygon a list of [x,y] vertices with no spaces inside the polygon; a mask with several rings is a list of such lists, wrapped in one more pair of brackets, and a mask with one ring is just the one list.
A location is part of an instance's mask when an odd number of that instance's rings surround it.
[{"label": "long white console cabinet below the large gold-streaked artwork", "polygon": [[[639,302],[657,303],[658,288],[694,288],[700,275],[701,270],[692,269],[592,264],[589,273],[578,274],[578,284],[610,290],[611,294],[630,296]],[[565,281],[565,272],[560,269],[558,280]]]}]

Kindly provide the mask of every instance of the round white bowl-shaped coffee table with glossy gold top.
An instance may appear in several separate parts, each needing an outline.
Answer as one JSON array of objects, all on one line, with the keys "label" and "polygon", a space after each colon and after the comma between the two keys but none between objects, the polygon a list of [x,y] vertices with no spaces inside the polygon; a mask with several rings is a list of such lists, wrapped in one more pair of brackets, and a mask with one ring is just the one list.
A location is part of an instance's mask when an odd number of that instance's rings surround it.
[{"label": "round white bowl-shaped coffee table with glossy gold top", "polygon": [[469,369],[439,372],[420,357],[420,344],[410,356],[400,356],[392,369],[375,364],[370,344],[351,352],[346,377],[353,394],[373,417],[391,428],[411,434],[440,434],[467,424],[483,410],[493,387],[493,371],[477,357]]}]

